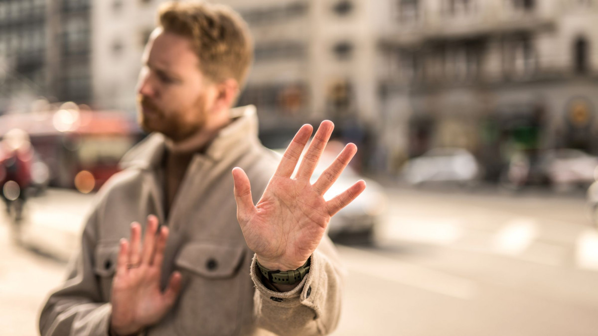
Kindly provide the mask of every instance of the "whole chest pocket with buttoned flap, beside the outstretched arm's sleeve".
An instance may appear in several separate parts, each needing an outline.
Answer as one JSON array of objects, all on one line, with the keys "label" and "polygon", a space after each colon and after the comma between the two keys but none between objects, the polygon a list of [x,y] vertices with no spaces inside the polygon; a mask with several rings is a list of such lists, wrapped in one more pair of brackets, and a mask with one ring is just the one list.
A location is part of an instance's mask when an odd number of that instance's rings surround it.
[{"label": "whole chest pocket with buttoned flap, beside the outstretched arm's sleeve", "polygon": [[[240,326],[249,269],[245,248],[213,242],[187,243],[176,258],[184,288],[175,312],[181,335],[233,335]],[[251,298],[251,296],[249,296]]]}]

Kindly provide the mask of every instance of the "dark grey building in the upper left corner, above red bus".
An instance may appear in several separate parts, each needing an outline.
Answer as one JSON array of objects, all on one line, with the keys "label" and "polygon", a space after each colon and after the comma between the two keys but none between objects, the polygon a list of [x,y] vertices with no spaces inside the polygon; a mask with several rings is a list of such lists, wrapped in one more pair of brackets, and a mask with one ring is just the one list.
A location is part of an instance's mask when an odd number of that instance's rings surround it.
[{"label": "dark grey building in the upper left corner, above red bus", "polygon": [[89,0],[0,1],[0,113],[90,102],[89,22]]}]

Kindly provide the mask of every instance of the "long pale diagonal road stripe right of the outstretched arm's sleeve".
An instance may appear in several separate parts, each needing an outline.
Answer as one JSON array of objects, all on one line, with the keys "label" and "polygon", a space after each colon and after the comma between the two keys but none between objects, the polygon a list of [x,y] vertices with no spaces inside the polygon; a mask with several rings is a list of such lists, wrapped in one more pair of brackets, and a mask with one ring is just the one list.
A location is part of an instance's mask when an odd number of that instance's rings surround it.
[{"label": "long pale diagonal road stripe right of the outstretched arm's sleeve", "polygon": [[349,271],[365,276],[377,277],[461,300],[472,300],[478,291],[477,283],[463,277],[346,246],[338,246],[338,250],[344,257],[343,264]]}]

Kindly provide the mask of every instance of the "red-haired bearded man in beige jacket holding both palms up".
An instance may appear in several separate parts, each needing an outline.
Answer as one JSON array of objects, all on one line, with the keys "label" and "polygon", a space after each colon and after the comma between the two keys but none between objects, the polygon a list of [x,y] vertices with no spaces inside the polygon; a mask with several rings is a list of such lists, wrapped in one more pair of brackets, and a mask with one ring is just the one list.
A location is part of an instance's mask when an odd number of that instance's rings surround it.
[{"label": "red-haired bearded man in beige jacket holding both palms up", "polygon": [[139,120],[154,133],[97,195],[41,334],[331,332],[341,278],[325,227],[365,184],[322,196],[355,145],[312,185],[332,123],[292,176],[312,133],[305,125],[276,167],[257,140],[255,109],[230,109],[252,57],[242,19],[199,2],[166,4],[158,17],[138,85]]}]

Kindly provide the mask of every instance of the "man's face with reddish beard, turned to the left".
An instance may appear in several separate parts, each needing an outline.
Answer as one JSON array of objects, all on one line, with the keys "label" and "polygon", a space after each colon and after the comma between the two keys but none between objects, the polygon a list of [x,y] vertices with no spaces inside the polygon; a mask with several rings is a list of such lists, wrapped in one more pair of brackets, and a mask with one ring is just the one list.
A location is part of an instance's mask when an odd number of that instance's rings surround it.
[{"label": "man's face with reddish beard, turned to the left", "polygon": [[180,141],[202,130],[210,109],[210,84],[184,36],[154,30],[139,74],[138,120],[145,132]]}]

